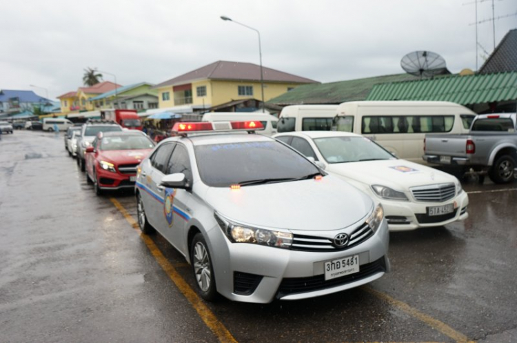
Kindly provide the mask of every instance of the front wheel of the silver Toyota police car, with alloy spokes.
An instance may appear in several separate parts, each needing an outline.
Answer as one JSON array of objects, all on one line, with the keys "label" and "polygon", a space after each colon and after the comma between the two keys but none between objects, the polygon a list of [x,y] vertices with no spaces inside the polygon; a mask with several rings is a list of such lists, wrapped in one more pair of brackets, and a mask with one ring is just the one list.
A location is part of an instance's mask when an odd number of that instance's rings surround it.
[{"label": "front wheel of the silver Toyota police car, with alloy spokes", "polygon": [[190,248],[190,263],[196,280],[196,288],[204,300],[212,302],[217,298],[212,257],[203,234],[196,233]]}]

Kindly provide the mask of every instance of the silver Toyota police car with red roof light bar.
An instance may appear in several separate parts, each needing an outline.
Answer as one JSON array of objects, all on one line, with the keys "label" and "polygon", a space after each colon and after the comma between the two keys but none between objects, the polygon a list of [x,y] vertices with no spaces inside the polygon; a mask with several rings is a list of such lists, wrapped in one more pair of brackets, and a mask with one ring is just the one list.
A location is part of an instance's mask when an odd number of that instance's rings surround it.
[{"label": "silver Toyota police car with red roof light bar", "polygon": [[382,277],[382,205],[275,139],[232,132],[262,127],[176,123],[136,175],[143,233],[185,256],[205,300],[298,300]]}]

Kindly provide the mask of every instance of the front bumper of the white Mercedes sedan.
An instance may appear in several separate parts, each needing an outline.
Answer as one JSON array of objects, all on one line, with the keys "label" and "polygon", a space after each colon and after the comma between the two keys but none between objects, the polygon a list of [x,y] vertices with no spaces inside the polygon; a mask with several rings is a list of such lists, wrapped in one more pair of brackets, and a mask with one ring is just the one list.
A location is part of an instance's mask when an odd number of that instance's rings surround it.
[{"label": "front bumper of the white Mercedes sedan", "polygon": [[[443,226],[469,217],[467,212],[469,197],[465,190],[445,202],[394,202],[383,199],[381,204],[383,204],[389,231],[409,231],[416,228]],[[455,204],[453,213],[437,216],[427,215],[427,207],[447,204]]]}]

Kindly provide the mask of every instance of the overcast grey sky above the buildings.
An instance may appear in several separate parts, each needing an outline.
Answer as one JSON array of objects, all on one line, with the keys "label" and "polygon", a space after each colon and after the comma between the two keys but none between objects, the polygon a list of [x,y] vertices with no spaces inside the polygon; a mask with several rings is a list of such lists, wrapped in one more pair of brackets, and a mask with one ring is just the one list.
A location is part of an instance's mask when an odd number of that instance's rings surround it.
[{"label": "overcast grey sky above the buildings", "polygon": [[[214,61],[259,64],[332,82],[403,72],[401,58],[429,50],[451,72],[476,69],[474,0],[1,0],[0,89],[55,98],[82,85],[85,68],[121,85],[158,84]],[[496,45],[517,28],[517,1],[494,0]],[[492,1],[478,0],[478,21]],[[494,49],[491,21],[478,41]],[[478,50],[478,67],[485,52]],[[105,74],[104,79],[114,81]],[[30,87],[39,86],[39,88]]]}]

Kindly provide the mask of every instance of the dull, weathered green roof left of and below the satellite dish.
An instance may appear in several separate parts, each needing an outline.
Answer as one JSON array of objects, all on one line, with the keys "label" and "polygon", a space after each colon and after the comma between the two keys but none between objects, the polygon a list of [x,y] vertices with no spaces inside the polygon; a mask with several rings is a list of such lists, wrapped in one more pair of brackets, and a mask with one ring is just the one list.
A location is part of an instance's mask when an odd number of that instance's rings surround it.
[{"label": "dull, weathered green roof left of and below the satellite dish", "polygon": [[409,74],[398,74],[328,84],[307,84],[298,86],[267,103],[276,105],[341,104],[345,101],[365,100],[376,84],[414,79],[416,77]]}]

